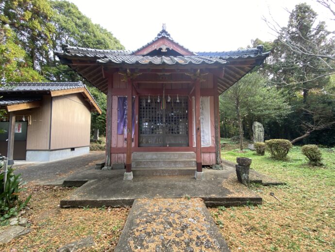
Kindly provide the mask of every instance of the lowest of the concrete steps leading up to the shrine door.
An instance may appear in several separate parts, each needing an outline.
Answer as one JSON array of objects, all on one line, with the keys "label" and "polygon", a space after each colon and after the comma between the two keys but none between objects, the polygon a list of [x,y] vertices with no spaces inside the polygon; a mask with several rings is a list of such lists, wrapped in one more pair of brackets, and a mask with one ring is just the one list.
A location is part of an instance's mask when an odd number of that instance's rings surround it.
[{"label": "lowest of the concrete steps leading up to the shrine door", "polygon": [[133,168],[134,176],[193,176],[195,167]]}]

